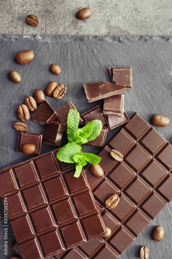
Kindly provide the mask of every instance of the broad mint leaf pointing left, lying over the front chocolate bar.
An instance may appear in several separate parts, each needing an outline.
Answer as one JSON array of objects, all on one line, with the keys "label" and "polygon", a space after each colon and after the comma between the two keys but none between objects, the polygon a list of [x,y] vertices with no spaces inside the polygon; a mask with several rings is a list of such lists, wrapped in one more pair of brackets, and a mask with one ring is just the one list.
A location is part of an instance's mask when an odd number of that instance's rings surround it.
[{"label": "broad mint leaf pointing left, lying over the front chocolate bar", "polygon": [[80,155],[81,146],[75,142],[68,143],[57,153],[57,159],[67,163],[75,163],[73,156]]}]

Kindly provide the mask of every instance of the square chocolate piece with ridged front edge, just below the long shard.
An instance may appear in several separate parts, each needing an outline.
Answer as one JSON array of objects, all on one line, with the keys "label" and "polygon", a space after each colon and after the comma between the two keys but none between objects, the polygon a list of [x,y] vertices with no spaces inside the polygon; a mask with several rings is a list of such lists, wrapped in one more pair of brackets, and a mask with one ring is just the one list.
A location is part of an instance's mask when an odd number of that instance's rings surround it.
[{"label": "square chocolate piece with ridged front edge, just below the long shard", "polygon": [[104,99],[103,114],[123,117],[124,95],[114,95]]}]

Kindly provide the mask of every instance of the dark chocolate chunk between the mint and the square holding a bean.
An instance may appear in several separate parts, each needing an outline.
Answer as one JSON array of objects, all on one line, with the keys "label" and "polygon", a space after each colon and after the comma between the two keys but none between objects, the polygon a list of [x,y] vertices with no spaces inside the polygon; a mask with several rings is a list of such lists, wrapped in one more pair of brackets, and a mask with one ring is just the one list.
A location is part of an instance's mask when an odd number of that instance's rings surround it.
[{"label": "dark chocolate chunk between the mint and the square holding a bean", "polygon": [[64,127],[57,121],[47,124],[42,142],[47,146],[60,146],[63,130]]}]

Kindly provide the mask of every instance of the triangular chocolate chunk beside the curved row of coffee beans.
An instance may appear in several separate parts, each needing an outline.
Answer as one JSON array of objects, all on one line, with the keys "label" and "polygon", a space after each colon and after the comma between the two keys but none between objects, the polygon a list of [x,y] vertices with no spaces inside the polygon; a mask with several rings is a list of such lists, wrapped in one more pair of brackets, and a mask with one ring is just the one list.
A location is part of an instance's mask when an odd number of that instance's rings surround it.
[{"label": "triangular chocolate chunk beside the curved row of coffee beans", "polygon": [[36,109],[32,118],[35,122],[40,124],[50,124],[57,118],[57,113],[53,110],[51,105],[44,100],[44,102]]}]

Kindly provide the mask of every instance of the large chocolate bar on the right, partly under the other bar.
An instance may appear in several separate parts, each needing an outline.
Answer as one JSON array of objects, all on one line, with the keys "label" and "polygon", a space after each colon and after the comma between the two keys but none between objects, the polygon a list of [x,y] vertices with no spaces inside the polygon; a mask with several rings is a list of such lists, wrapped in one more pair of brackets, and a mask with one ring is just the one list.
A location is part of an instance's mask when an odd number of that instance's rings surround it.
[{"label": "large chocolate bar on the right, partly under the other bar", "polygon": [[[119,150],[124,160],[111,159],[111,149]],[[96,203],[111,235],[73,248],[78,259],[117,258],[172,199],[172,146],[138,114],[99,153],[101,178],[85,169]],[[120,201],[108,210],[105,200],[116,193]],[[67,259],[66,254],[56,256]]]}]

